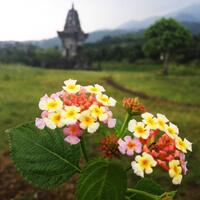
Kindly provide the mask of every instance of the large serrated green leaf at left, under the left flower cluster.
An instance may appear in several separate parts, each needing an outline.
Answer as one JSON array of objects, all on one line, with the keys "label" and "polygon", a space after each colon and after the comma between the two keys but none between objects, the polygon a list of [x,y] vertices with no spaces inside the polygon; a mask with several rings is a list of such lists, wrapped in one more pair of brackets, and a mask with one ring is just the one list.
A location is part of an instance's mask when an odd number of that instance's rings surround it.
[{"label": "large serrated green leaf at left, under the left flower cluster", "polygon": [[64,142],[60,129],[39,130],[30,122],[9,130],[9,138],[14,164],[35,186],[52,188],[80,171],[80,146]]}]

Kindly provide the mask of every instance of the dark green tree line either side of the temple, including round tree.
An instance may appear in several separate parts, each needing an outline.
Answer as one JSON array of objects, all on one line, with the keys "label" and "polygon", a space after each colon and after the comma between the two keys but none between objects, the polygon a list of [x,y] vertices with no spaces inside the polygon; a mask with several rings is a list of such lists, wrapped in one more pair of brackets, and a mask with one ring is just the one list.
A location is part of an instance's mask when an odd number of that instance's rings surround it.
[{"label": "dark green tree line either side of the temple, including round tree", "polygon": [[[174,19],[161,19],[146,31],[85,44],[84,56],[92,63],[127,61],[150,58],[168,63],[193,62],[200,65],[200,35],[192,35]],[[1,63],[23,63],[31,66],[56,68],[63,63],[58,47],[42,49],[33,44],[15,43],[0,48]]]}]

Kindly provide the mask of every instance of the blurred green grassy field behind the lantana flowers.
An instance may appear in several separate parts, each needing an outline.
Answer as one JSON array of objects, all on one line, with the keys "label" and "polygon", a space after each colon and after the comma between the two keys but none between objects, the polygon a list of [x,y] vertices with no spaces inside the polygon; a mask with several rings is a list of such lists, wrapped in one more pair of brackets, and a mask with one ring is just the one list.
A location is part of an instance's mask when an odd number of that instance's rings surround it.
[{"label": "blurred green grassy field behind the lantana flowers", "polygon": [[[0,66],[0,151],[8,149],[4,130],[20,123],[33,120],[38,114],[38,101],[45,93],[61,89],[64,80],[74,78],[81,84],[99,83],[108,94],[118,100],[113,110],[123,118],[120,101],[130,96],[106,85],[103,78],[112,77],[118,84],[143,92],[149,96],[162,97],[176,104],[162,101],[143,100],[152,113],[164,113],[170,121],[178,124],[182,136],[193,142],[193,153],[189,155],[189,173],[184,178],[183,188],[200,186],[200,70],[183,66],[172,68],[171,75],[159,75],[158,66],[128,66],[129,71],[113,71],[115,64],[102,64],[109,69],[102,72],[63,71],[29,68],[19,65]],[[118,70],[122,64],[116,64]],[[125,64],[124,64],[125,65]],[[113,67],[111,67],[113,66]],[[130,70],[131,69],[131,70]],[[174,70],[173,70],[174,69]],[[188,106],[188,104],[190,106]]]}]

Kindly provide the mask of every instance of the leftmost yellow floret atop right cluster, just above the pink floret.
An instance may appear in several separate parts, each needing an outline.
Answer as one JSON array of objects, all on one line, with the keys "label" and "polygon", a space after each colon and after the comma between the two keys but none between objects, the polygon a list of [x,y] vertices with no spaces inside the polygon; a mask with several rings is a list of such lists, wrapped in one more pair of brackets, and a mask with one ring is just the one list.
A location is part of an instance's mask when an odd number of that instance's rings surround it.
[{"label": "leftmost yellow floret atop right cluster, just above the pink floret", "polygon": [[145,127],[143,122],[137,122],[135,119],[132,119],[129,122],[128,130],[137,138],[147,139],[150,134],[149,128]]}]

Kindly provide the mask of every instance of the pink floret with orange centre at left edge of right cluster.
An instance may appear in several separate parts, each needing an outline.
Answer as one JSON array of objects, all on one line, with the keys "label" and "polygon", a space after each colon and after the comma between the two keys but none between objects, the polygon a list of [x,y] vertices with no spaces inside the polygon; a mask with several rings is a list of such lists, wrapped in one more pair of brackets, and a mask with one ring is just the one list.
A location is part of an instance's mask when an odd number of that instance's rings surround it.
[{"label": "pink floret with orange centre at left edge of right cluster", "polygon": [[136,153],[141,153],[142,150],[142,144],[139,141],[138,138],[132,139],[131,136],[125,136],[124,140],[119,139],[119,151],[122,154],[127,154],[128,156],[132,156],[134,154],[134,151]]}]

